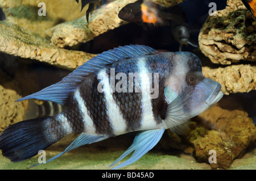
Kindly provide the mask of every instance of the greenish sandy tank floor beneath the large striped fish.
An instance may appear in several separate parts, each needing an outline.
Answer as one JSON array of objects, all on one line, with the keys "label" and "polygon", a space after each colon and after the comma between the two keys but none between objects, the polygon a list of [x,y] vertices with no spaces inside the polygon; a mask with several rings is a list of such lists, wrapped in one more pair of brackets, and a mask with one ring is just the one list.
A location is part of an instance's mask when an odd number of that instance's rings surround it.
[{"label": "greenish sandy tank floor beneath the large striped fish", "polygon": [[[32,167],[31,170],[105,170],[130,146],[134,134],[109,138],[92,145],[85,145],[70,151],[52,162]],[[46,159],[63,151],[74,137],[63,138],[46,150]],[[156,146],[157,147],[157,146]],[[0,155],[0,170],[28,170],[38,163],[39,155],[23,162],[12,163]],[[127,159],[127,158],[126,158]],[[208,163],[199,163],[192,155],[183,151],[153,149],[137,162],[123,167],[130,170],[208,170]],[[247,150],[240,159],[235,159],[229,169],[256,169],[256,148]]]}]

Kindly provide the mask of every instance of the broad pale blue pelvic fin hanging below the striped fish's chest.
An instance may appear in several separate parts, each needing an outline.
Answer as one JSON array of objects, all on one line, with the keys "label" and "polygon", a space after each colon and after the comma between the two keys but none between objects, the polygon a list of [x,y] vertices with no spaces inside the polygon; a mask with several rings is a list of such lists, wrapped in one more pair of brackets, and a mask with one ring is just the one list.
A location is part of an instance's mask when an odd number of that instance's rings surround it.
[{"label": "broad pale blue pelvic fin hanging below the striped fish's chest", "polygon": [[112,163],[109,167],[114,166],[116,163],[121,161],[127,155],[129,155],[132,151],[134,151],[133,155],[125,162],[122,162],[118,166],[113,169],[120,169],[123,166],[130,165],[131,163],[136,162],[139,158],[141,158],[144,154],[146,154],[149,150],[154,148],[154,146],[158,143],[160,138],[164,133],[164,128],[162,129],[152,129],[148,131],[142,131],[137,134],[134,138],[133,144],[119,157],[115,162]]}]

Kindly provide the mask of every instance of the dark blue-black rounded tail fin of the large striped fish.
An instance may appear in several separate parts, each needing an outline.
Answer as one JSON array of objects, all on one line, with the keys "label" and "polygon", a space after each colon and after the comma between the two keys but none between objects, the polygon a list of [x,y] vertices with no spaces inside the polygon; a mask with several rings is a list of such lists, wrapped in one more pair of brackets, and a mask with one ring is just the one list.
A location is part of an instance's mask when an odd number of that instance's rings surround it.
[{"label": "dark blue-black rounded tail fin of the large striped fish", "polygon": [[6,128],[0,135],[3,156],[12,162],[20,162],[51,146],[54,142],[48,141],[44,134],[47,118],[21,121]]}]

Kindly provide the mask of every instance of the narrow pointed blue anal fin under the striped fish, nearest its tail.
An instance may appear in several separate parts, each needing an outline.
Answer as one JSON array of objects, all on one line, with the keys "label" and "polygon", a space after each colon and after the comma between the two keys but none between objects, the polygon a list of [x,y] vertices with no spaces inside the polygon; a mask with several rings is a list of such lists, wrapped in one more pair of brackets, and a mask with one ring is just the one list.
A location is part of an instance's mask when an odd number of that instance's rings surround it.
[{"label": "narrow pointed blue anal fin under the striped fish, nearest its tail", "polygon": [[[46,163],[53,161],[53,159],[56,159],[56,158],[60,157],[61,155],[67,153],[68,151],[79,148],[79,146],[86,145],[86,144],[92,144],[93,142],[102,141],[102,140],[105,140],[107,138],[109,138],[109,137],[107,137],[107,136],[94,136],[94,135],[90,135],[90,134],[86,134],[86,133],[81,133],[80,136],[77,137],[76,140],[73,141],[63,152],[55,155],[54,157],[52,157],[51,159],[46,161]],[[42,164],[42,163],[32,165],[31,167],[34,167],[34,166],[37,166],[37,165],[40,165],[40,164]]]}]

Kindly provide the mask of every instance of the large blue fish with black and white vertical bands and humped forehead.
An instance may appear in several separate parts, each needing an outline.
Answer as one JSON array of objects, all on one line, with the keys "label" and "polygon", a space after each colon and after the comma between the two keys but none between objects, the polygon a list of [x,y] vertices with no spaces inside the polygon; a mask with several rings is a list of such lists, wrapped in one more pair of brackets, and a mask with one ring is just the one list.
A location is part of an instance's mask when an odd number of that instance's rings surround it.
[{"label": "large blue fish with black and white vertical bands and humped forehead", "polygon": [[202,74],[189,52],[159,52],[143,45],[115,48],[85,62],[55,85],[19,99],[48,100],[67,108],[54,116],[20,121],[0,136],[12,162],[34,157],[64,136],[81,133],[62,153],[109,137],[138,132],[110,167],[127,166],[154,148],[165,129],[181,133],[191,117],[222,98],[221,85]]}]

